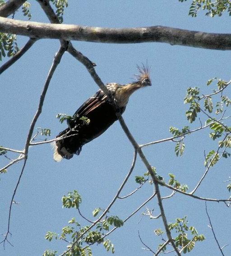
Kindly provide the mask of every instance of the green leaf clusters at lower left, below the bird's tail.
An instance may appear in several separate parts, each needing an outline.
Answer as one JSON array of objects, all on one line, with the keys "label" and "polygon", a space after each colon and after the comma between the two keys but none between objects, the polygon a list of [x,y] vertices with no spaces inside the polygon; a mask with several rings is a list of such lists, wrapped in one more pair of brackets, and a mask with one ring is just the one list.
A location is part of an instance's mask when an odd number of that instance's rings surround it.
[{"label": "green leaf clusters at lower left, below the bird's tail", "polygon": [[[64,208],[76,208],[79,209],[79,205],[82,203],[82,198],[77,190],[68,192],[67,196],[62,197],[62,204]],[[92,215],[96,217],[97,214],[102,211],[101,208],[93,210]],[[65,251],[66,256],[92,256],[91,245],[103,244],[106,251],[115,252],[113,243],[109,239],[105,239],[105,231],[109,231],[110,227],[115,228],[122,227],[124,222],[118,216],[105,216],[104,219],[96,223],[95,230],[89,229],[89,226],[81,226],[75,218],[69,220],[69,225],[62,228],[62,232],[59,235],[56,232],[48,231],[45,235],[45,239],[52,241],[53,239],[65,240],[69,242],[67,246],[68,250]],[[43,256],[56,256],[57,251],[46,250]]]}]

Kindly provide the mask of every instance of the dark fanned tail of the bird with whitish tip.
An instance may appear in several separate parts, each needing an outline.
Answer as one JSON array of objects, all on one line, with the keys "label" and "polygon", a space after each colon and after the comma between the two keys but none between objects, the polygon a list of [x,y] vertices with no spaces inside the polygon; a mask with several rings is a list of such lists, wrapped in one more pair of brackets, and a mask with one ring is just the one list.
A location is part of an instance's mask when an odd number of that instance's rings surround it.
[{"label": "dark fanned tail of the bird with whitish tip", "polygon": [[63,158],[71,159],[74,154],[80,153],[82,142],[79,139],[79,134],[76,131],[70,131],[69,128],[59,133],[56,138],[63,137],[54,143],[54,160],[60,162]]}]

